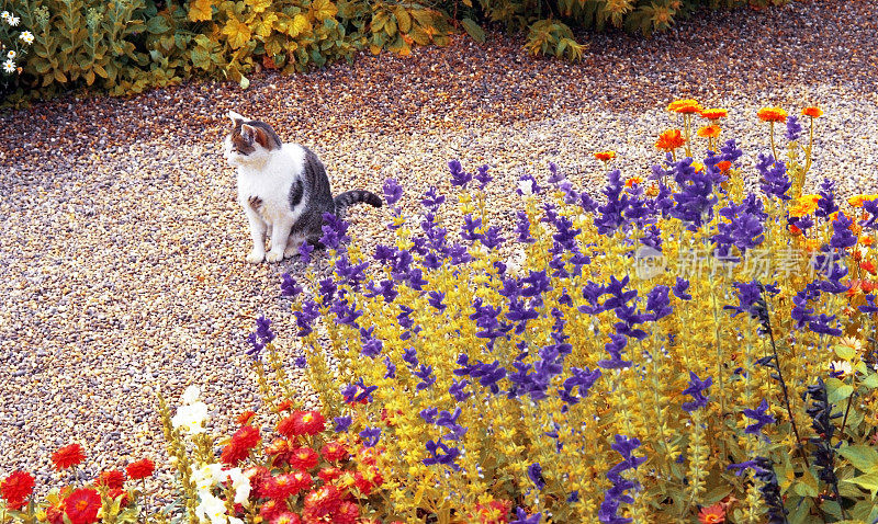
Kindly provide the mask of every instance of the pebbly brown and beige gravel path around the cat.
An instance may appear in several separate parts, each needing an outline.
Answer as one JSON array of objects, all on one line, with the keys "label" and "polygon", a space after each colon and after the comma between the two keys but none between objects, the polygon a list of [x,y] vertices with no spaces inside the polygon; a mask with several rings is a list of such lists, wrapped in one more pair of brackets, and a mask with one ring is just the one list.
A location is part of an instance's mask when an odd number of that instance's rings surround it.
[{"label": "pebbly brown and beige gravel path around the cat", "polygon": [[[812,173],[874,192],[876,34],[870,0],[793,2],[713,13],[650,41],[583,36],[576,65],[528,57],[520,39],[455,38],[407,58],[258,75],[245,92],[199,82],[0,116],[0,476],[22,467],[45,486],[49,454],[70,442],[91,471],[164,462],[153,391],[176,402],[200,385],[226,432],[258,405],[243,354],[254,319],[274,320],[278,344],[294,351],[279,283],[302,265],[244,262],[249,237],[219,149],[227,110],[313,147],[336,192],[379,191],[394,175],[410,205],[430,183],[448,189],[449,159],[489,162],[502,216],[517,206],[518,174],[544,178],[549,161],[595,191],[595,150],[645,174],[674,98],[729,107],[724,136],[753,156],[767,149],[758,107],[813,103],[826,116]],[[356,208],[351,231],[372,246],[385,218]]]}]

